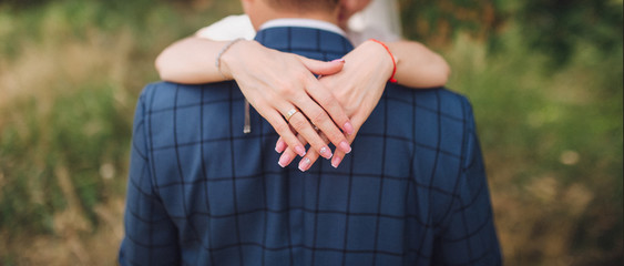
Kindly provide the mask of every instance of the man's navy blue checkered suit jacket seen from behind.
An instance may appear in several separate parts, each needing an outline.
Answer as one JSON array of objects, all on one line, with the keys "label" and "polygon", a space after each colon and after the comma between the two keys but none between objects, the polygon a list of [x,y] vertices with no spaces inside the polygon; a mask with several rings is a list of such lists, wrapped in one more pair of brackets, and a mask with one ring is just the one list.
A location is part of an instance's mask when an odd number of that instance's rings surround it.
[{"label": "man's navy blue checkered suit jacket seen from behind", "polygon": [[[352,49],[316,29],[258,32],[319,60]],[[499,265],[466,98],[388,84],[339,168],[282,168],[235,82],[154,83],[136,108],[122,265]]]}]

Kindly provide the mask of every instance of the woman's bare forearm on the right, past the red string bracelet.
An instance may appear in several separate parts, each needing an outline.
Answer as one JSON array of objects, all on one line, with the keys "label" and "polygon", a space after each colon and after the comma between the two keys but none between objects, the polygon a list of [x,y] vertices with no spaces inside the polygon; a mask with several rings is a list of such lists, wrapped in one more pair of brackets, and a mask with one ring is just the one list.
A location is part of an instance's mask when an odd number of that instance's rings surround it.
[{"label": "woman's bare forearm on the right, past the red string bracelet", "polygon": [[433,88],[444,85],[451,70],[447,61],[421,43],[397,41],[387,43],[398,59],[395,78],[401,85]]}]

